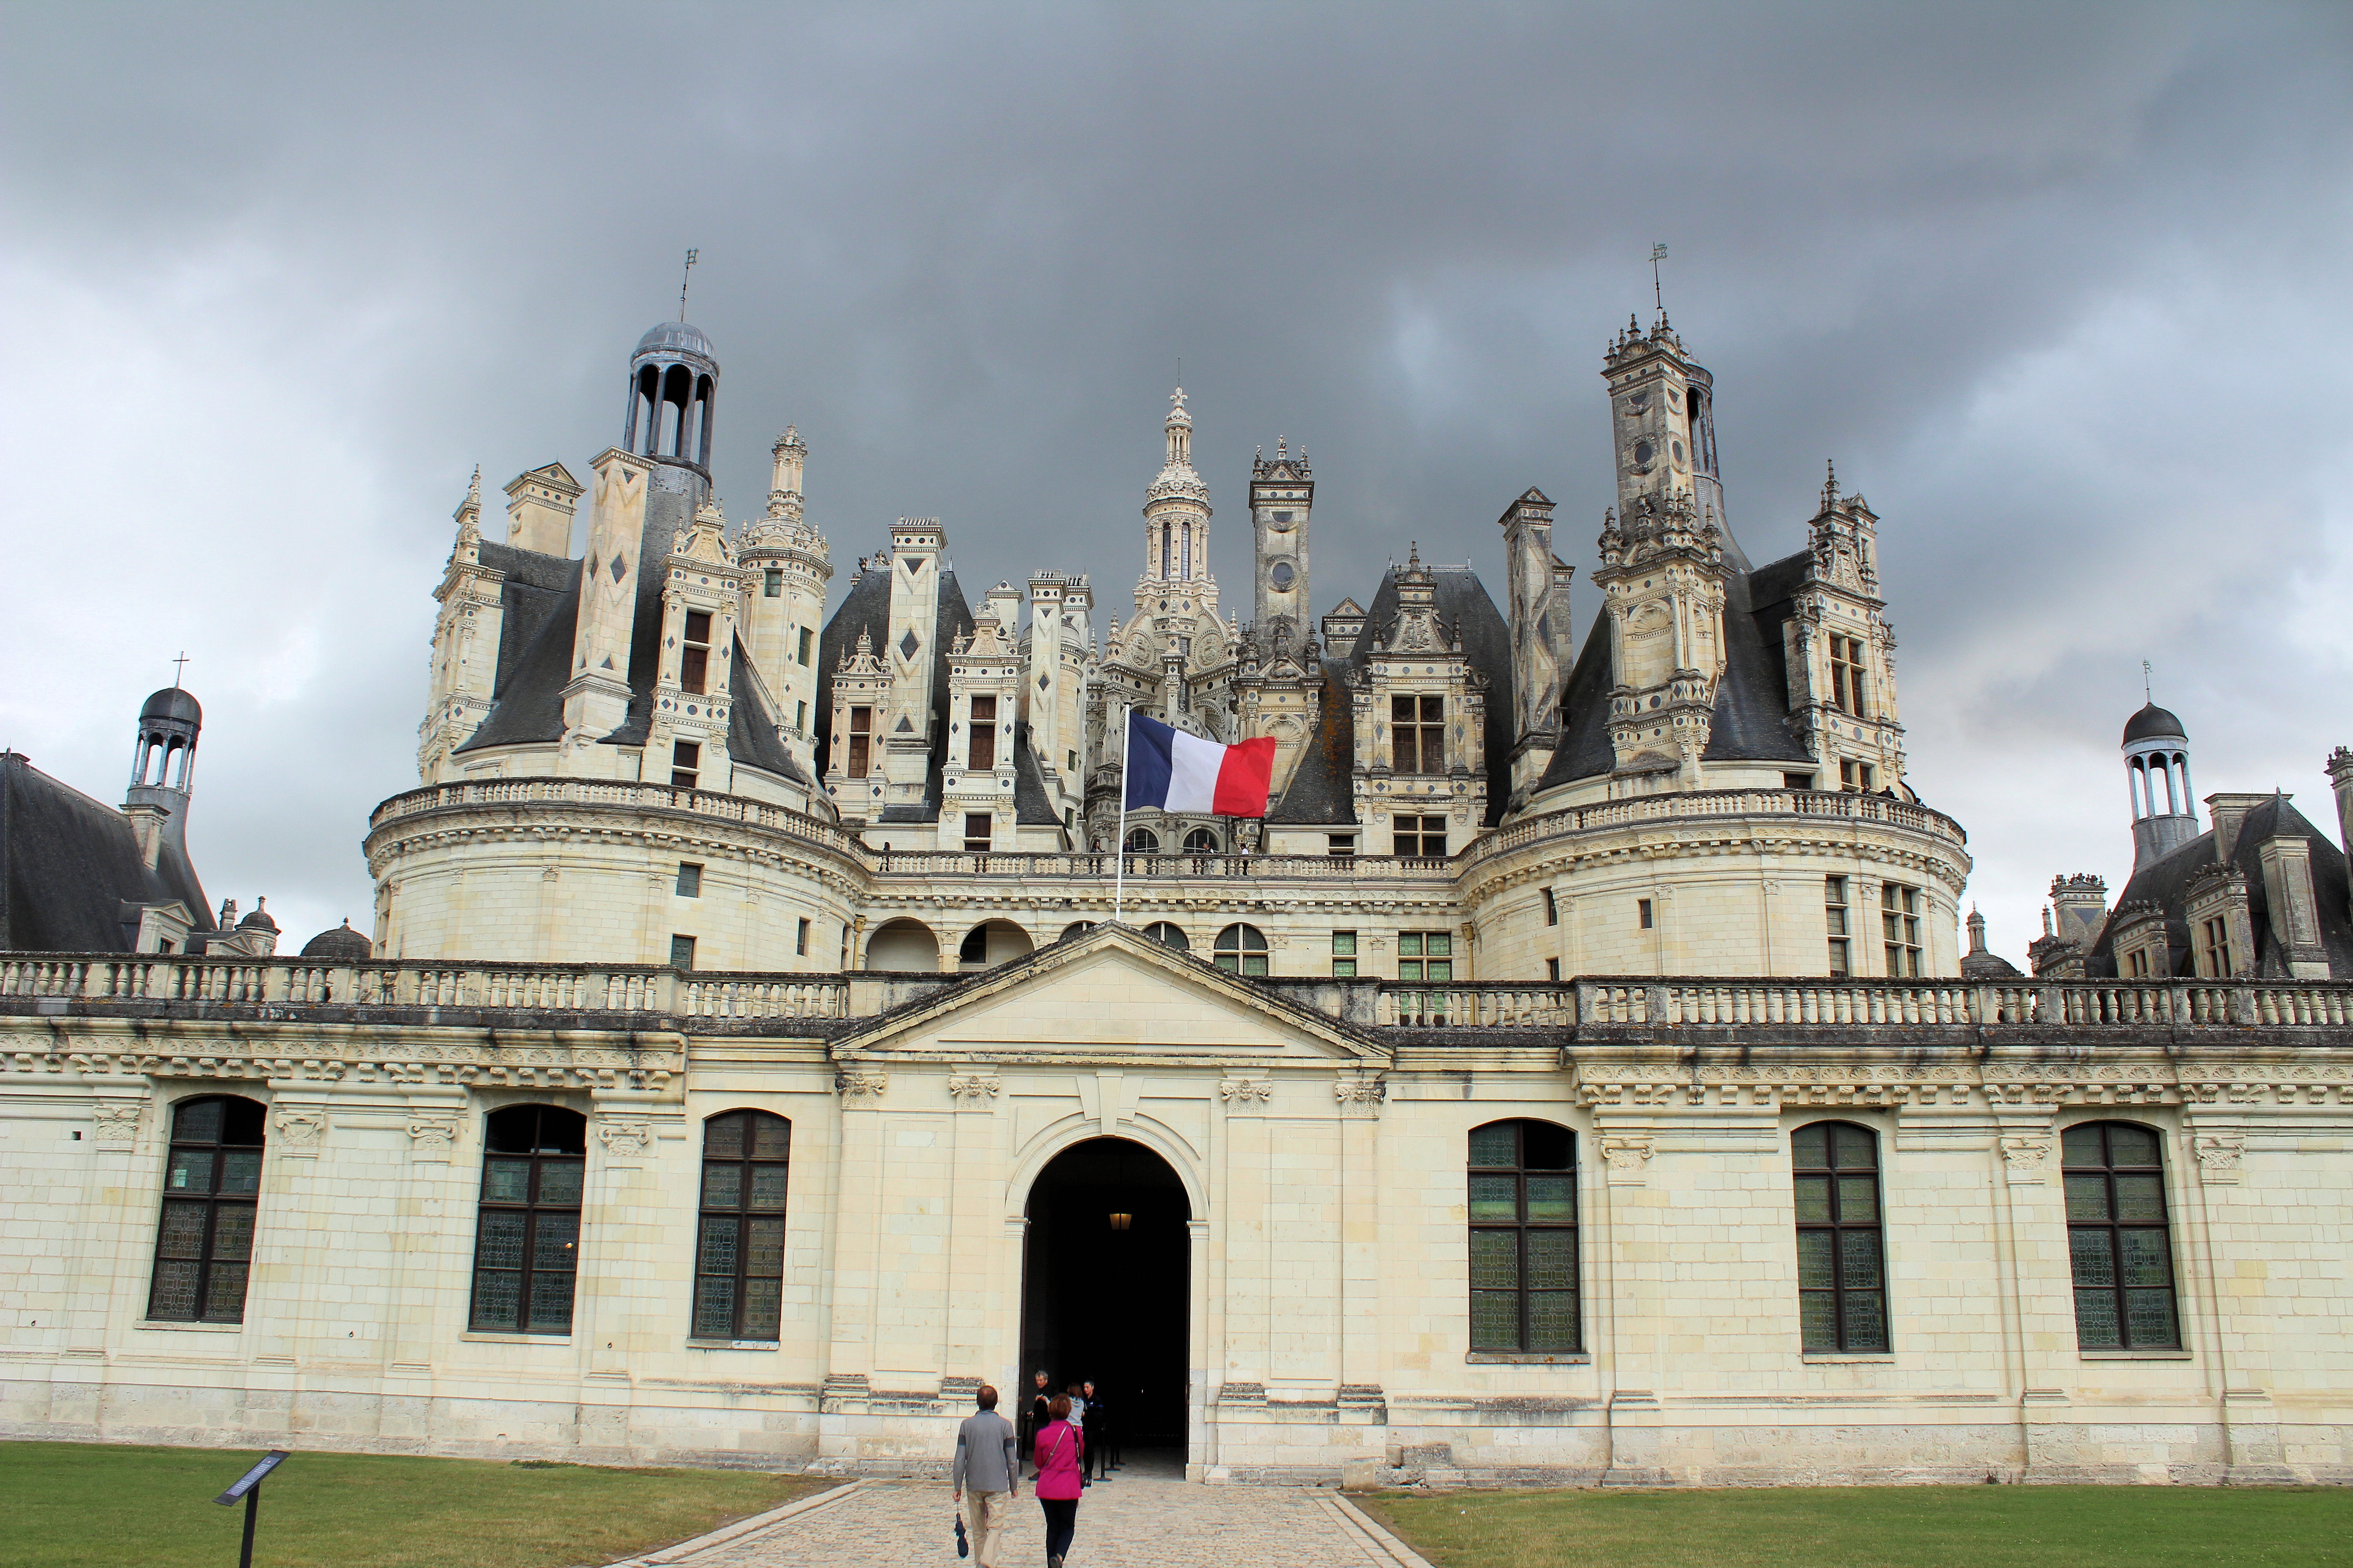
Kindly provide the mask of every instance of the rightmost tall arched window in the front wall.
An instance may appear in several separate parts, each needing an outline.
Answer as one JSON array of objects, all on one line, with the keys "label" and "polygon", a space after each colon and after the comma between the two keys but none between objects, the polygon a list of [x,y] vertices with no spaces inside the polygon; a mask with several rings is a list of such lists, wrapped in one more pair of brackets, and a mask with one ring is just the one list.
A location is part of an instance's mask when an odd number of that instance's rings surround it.
[{"label": "rightmost tall arched window in the front wall", "polygon": [[2165,1145],[2146,1126],[2085,1121],[2061,1133],[2059,1150],[2075,1262],[2075,1345],[2181,1349]]}]

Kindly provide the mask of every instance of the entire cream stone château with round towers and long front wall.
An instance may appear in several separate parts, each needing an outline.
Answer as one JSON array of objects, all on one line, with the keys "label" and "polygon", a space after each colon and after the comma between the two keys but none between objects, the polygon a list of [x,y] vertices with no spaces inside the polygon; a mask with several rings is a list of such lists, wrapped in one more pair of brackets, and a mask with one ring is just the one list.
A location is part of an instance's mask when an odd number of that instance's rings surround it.
[{"label": "entire cream stone ch\u00e2teau with round towers and long front wall", "polygon": [[[1311,618],[1285,440],[1224,616],[1179,393],[1096,646],[936,517],[828,614],[807,442],[732,527],[647,331],[588,484],[459,505],[374,943],[0,954],[0,1429],[939,1472],[1052,1363],[1224,1481],[2353,1479],[2339,846],[2209,797],[1962,952],[1878,515],[1751,567],[1708,371],[1602,376],[1581,644],[1539,489],[1501,607]],[[1127,710],[1266,818],[1122,823]]]}]

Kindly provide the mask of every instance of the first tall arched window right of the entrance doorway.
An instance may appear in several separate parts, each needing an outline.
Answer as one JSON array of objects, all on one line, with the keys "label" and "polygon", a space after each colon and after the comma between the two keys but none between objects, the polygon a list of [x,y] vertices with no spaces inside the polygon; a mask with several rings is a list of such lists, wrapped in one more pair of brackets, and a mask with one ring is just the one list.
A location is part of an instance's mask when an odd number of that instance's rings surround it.
[{"label": "first tall arched window right of the entrance doorway", "polygon": [[1551,1121],[1471,1131],[1471,1349],[1579,1347],[1577,1138]]}]

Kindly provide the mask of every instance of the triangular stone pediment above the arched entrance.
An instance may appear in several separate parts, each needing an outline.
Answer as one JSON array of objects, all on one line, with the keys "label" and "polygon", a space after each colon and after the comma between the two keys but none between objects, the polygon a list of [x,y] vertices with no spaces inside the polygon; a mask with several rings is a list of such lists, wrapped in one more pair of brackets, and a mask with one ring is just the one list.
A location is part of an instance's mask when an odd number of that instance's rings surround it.
[{"label": "triangular stone pediment above the arched entrance", "polygon": [[1362,1030],[1111,924],[882,1013],[833,1056],[1388,1065]]}]

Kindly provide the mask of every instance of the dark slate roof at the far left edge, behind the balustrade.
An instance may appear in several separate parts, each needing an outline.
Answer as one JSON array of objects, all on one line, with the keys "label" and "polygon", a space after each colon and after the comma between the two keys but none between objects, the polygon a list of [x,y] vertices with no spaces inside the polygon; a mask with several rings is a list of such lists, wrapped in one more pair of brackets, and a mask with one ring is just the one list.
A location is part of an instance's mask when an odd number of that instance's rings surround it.
[{"label": "dark slate roof at the far left edge, behind the balustrade", "polygon": [[129,952],[139,905],[174,900],[212,931],[181,832],[165,832],[148,870],[127,816],[0,752],[0,950]]}]

